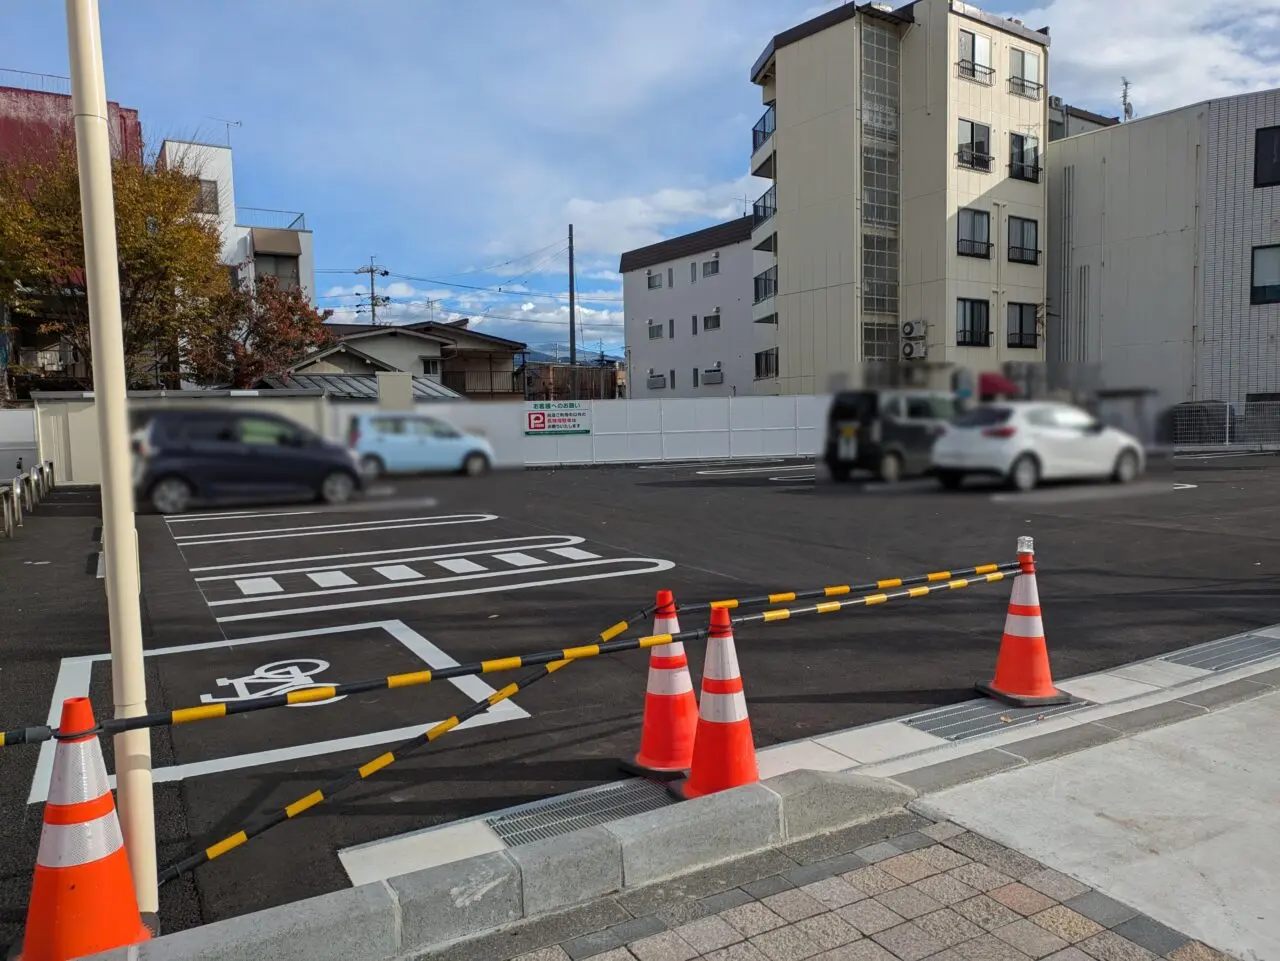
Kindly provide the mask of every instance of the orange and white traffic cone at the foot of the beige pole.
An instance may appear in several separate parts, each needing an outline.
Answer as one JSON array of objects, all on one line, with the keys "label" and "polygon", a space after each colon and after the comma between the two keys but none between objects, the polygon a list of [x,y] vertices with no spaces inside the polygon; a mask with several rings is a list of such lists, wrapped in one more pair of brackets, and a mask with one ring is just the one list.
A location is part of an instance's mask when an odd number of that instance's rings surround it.
[{"label": "orange and white traffic cone at the foot of the beige pole", "polygon": [[[92,732],[88,697],[63,701],[64,732]],[[148,941],[97,735],[60,740],[20,961],[69,961]]]}]

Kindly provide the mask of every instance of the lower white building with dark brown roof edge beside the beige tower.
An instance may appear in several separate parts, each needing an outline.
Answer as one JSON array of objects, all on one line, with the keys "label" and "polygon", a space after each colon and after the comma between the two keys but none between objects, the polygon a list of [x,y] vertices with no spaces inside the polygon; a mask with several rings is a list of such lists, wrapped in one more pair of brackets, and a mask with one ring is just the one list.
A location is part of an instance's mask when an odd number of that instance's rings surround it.
[{"label": "lower white building with dark brown roof edge beside the beige tower", "polygon": [[777,393],[777,325],[751,322],[753,218],[622,255],[631,398]]}]

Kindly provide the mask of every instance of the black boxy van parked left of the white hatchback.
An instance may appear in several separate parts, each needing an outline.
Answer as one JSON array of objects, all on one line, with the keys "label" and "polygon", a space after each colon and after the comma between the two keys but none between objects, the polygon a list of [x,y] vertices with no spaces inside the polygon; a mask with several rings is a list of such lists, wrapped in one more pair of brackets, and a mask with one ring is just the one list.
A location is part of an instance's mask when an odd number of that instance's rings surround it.
[{"label": "black boxy van parked left of the white hatchback", "polygon": [[929,470],[933,441],[956,413],[942,390],[845,390],[831,401],[823,461],[837,481],[870,471],[887,484]]}]

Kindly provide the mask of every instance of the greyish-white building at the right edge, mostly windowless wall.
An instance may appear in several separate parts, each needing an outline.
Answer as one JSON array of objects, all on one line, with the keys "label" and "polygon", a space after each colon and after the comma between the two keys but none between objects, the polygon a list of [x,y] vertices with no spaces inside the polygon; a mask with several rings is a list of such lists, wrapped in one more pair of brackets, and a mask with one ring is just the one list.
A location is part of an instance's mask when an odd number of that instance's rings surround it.
[{"label": "greyish-white building at the right edge, mostly windowless wall", "polygon": [[1050,360],[1280,399],[1280,90],[1057,141],[1048,175]]}]

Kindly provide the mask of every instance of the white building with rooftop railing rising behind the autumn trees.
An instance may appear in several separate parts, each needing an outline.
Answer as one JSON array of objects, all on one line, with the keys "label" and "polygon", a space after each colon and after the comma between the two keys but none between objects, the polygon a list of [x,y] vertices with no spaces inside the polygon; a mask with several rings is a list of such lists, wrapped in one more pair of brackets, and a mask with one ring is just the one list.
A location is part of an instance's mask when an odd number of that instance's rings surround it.
[{"label": "white building with rooftop railing rising behind the autumn trees", "polygon": [[160,163],[200,178],[202,212],[216,218],[223,232],[224,264],[242,267],[241,278],[248,283],[259,274],[271,274],[282,287],[301,285],[316,302],[315,253],[306,216],[237,206],[230,147],[166,139],[160,145]]}]

